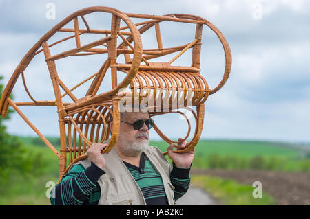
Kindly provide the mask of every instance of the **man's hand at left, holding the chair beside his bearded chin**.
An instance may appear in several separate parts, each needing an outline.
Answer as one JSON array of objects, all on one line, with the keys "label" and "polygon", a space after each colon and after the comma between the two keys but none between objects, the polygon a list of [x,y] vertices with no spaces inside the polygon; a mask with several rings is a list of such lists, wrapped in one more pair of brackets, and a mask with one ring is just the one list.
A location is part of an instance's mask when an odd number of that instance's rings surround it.
[{"label": "man's hand at left, holding the chair beside his bearded chin", "polygon": [[105,159],[103,158],[101,152],[106,146],[107,143],[93,143],[86,152],[90,161],[101,169],[105,167]]}]

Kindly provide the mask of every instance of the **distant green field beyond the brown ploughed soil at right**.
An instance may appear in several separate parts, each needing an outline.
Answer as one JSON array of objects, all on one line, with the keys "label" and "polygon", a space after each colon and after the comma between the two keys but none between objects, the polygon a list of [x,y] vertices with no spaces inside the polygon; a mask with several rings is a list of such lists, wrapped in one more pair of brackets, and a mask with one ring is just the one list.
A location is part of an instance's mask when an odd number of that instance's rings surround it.
[{"label": "distant green field beyond the brown ploughed soil at right", "polygon": [[[167,150],[167,143],[150,145]],[[193,168],[259,169],[310,172],[309,152],[289,144],[265,141],[202,140],[195,148]]]}]

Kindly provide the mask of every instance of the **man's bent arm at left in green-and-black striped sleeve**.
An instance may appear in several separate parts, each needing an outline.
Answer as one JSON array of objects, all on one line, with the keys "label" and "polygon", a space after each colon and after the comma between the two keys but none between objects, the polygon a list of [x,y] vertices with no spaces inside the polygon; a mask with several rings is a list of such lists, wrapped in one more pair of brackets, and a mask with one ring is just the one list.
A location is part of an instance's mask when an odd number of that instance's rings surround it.
[{"label": "man's bent arm at left in green-and-black striped sleeve", "polygon": [[[90,195],[96,191],[98,179],[105,172],[94,163],[90,167],[74,165],[61,182],[54,187],[50,202],[52,205],[83,205],[89,202]],[[100,192],[100,189],[99,191]]]}]

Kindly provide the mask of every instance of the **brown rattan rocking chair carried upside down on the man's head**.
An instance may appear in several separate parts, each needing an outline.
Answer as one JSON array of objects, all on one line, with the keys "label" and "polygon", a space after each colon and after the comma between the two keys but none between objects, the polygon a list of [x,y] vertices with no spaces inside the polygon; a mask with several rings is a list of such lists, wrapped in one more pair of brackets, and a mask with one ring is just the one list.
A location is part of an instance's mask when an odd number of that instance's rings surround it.
[{"label": "brown rattan rocking chair carried upside down on the man's head", "polygon": [[[110,17],[110,29],[92,29],[92,24],[87,22],[92,14],[105,14]],[[134,23],[132,20],[141,19]],[[101,20],[100,20],[101,21]],[[106,21],[103,21],[106,22]],[[160,25],[165,23],[180,23],[194,25],[194,39],[184,45],[176,47],[164,47]],[[73,28],[67,27],[73,25]],[[85,28],[82,28],[81,26]],[[225,54],[225,69],[223,77],[214,89],[209,89],[207,80],[200,74],[200,53],[203,45],[203,26],[209,27],[218,36]],[[143,49],[141,36],[154,27],[157,48]],[[59,33],[72,34],[57,39]],[[82,36],[103,36],[96,40],[84,43]],[[180,34],[181,35],[181,34]],[[52,41],[52,42],[51,42]],[[74,46],[64,47],[63,43],[74,41]],[[61,52],[54,54],[53,49],[60,48]],[[180,56],[184,56],[192,49],[191,66],[174,66],[173,62]],[[50,73],[54,100],[37,100],[30,93],[26,84],[28,65],[35,56],[43,54],[44,61]],[[156,58],[166,58],[170,54],[176,54],[167,61],[153,61]],[[101,67],[96,73],[86,74],[84,80],[71,89],[63,81],[64,74],[57,71],[56,62],[70,57],[100,56],[106,55]],[[120,61],[120,55],[123,60]],[[167,59],[167,58],[166,58]],[[145,104],[149,108],[149,116],[155,117],[167,113],[178,113],[185,117],[188,125],[187,133],[183,140],[189,138],[192,126],[189,118],[180,109],[189,111],[194,116],[194,136],[187,140],[185,149],[176,152],[192,150],[198,143],[205,115],[205,102],[209,95],[220,90],[229,77],[231,71],[231,51],[223,34],[206,19],[190,14],[166,14],[164,16],[147,14],[123,13],[114,8],[89,7],[74,12],[60,23],[56,24],[49,32],[43,35],[37,43],[23,57],[19,65],[12,73],[0,100],[0,112],[3,117],[11,106],[22,119],[37,133],[45,144],[56,154],[59,159],[59,176],[68,171],[70,165],[85,159],[87,148],[94,142],[105,142],[108,146],[103,153],[109,152],[114,147],[120,127],[120,104],[129,100],[138,104]],[[122,75],[123,79],[119,80]],[[25,93],[31,102],[13,102],[10,94],[21,76]],[[101,91],[103,81],[109,76],[112,89]],[[74,77],[74,76],[73,76]],[[87,87],[85,95],[77,95],[76,89]],[[65,98],[70,101],[65,102]],[[56,150],[41,132],[22,113],[19,106],[56,106],[58,112],[60,145]],[[110,132],[110,116],[114,120],[112,132]],[[154,125],[154,130],[167,143],[180,143],[169,139]],[[166,153],[164,153],[166,154]]]}]

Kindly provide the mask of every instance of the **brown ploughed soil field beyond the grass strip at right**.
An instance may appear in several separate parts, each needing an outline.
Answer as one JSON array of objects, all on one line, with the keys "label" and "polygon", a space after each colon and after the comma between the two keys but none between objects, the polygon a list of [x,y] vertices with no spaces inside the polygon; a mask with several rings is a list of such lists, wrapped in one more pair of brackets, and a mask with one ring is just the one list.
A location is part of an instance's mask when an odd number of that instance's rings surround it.
[{"label": "brown ploughed soil field beyond the grass strip at right", "polygon": [[192,170],[192,174],[208,174],[248,185],[260,181],[263,192],[273,196],[278,205],[310,205],[310,174],[308,173],[265,170]]}]

